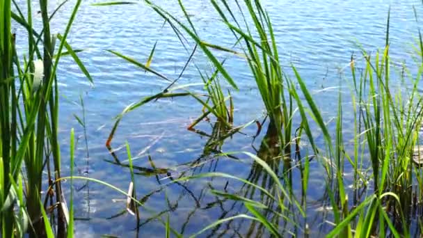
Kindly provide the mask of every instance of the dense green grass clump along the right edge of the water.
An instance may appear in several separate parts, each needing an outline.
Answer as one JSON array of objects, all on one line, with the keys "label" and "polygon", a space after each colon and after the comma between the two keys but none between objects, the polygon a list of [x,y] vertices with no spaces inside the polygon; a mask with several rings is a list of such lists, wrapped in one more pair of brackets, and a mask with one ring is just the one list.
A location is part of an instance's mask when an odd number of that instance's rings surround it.
[{"label": "dense green grass clump along the right edge of the water", "polygon": [[[307,125],[304,128],[305,132],[315,153],[329,159],[324,164],[335,174],[335,177],[328,177],[327,180],[335,217],[335,228],[329,233],[330,237],[334,235],[351,237],[353,231],[351,223],[356,221],[357,217],[354,232],[360,237],[387,234],[399,237],[400,234],[408,236],[410,232],[406,221],[410,219],[410,208],[416,200],[413,198],[413,187],[415,182],[421,184],[421,173],[413,166],[413,151],[423,116],[423,101],[417,92],[423,63],[417,66],[417,75],[408,74],[406,77],[411,86],[410,90],[406,91],[406,97],[402,88],[392,90],[391,83],[395,82],[396,77],[390,70],[392,63],[389,54],[389,21],[388,14],[383,54],[377,51],[372,57],[362,49],[365,68],[360,77],[357,77],[356,62],[351,61],[351,76],[354,84],[351,90],[351,102],[355,112],[353,154],[344,151],[341,95],[336,138],[333,140],[328,133],[328,127],[323,123],[319,109],[305,88],[303,79],[293,68],[313,118],[324,132],[324,142],[328,148],[326,153],[314,144],[314,138],[308,126],[308,117],[301,109],[303,106],[296,88],[292,87],[292,93],[301,107],[299,111],[301,111],[303,125]],[[400,75],[400,80],[397,79],[397,81],[405,80],[404,74]],[[368,154],[368,161],[371,163],[371,177],[365,175],[367,168],[363,167],[364,154]],[[343,179],[344,159],[353,166],[355,189],[360,186],[359,184],[361,186],[367,186],[368,182],[373,184],[373,187],[369,188],[369,192],[373,194],[362,201],[354,198],[356,208],[351,211]],[[415,192],[418,193],[418,191]]]}]

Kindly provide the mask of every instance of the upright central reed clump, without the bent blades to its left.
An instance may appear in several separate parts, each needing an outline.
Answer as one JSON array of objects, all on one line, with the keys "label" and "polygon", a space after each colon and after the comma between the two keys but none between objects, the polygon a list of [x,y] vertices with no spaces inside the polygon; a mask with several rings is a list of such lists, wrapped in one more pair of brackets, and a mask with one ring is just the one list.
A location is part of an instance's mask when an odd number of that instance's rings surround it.
[{"label": "upright central reed clump, without the bent blades to its left", "polygon": [[[222,21],[236,38],[241,38],[244,42],[244,54],[247,56],[248,65],[270,118],[269,130],[280,137],[282,148],[290,156],[292,97],[285,90],[285,87],[289,86],[289,81],[285,80],[286,77],[282,72],[278,46],[269,15],[262,8],[260,1],[244,1],[250,17],[247,19],[239,2],[236,1],[241,13],[241,19],[237,19],[228,1],[223,0],[221,3],[224,7],[219,6],[218,1],[212,1]],[[235,22],[235,25],[230,22],[230,19]],[[244,22],[244,27],[239,22]],[[249,22],[253,24],[253,29],[248,26]]]}]

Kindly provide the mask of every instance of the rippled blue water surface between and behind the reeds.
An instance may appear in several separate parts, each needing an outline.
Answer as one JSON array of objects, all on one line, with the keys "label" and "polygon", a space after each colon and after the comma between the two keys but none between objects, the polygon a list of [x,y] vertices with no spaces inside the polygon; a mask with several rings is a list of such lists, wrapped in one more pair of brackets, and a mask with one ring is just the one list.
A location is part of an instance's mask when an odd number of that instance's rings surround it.
[{"label": "rippled blue water surface between and behind the reeds", "polygon": [[[145,62],[154,42],[157,42],[152,68],[175,79],[184,66],[189,54],[167,25],[161,28],[163,21],[143,4],[131,6],[95,7],[83,1],[68,42],[74,49],[84,49],[79,56],[87,66],[95,80],[92,87],[84,78],[71,58],[63,58],[59,68],[61,97],[61,145],[63,145],[64,173],[69,173],[68,145],[69,134],[75,128],[78,140],[76,166],[82,176],[103,180],[126,190],[131,180],[129,169],[115,165],[113,157],[106,150],[106,141],[113,117],[131,102],[136,102],[146,95],[163,90],[166,81],[161,81],[151,74],[145,73],[120,58],[106,52],[113,49],[127,56]],[[351,52],[358,52],[356,42],[365,49],[375,51],[385,43],[385,24],[388,8],[391,5],[391,52],[394,60],[410,61],[408,52],[411,50],[417,35],[417,24],[413,16],[413,8],[423,15],[419,0],[406,1],[263,1],[273,20],[282,52],[282,63],[298,66],[308,86],[316,94],[325,111],[326,119],[335,115],[333,111],[337,104],[337,88],[340,85],[340,71],[349,63]],[[177,1],[157,1],[171,13],[182,14]],[[203,40],[230,46],[234,42],[218,16],[214,13],[209,1],[186,0],[187,11],[193,15],[193,22],[200,31]],[[54,20],[52,32],[63,32],[66,21],[71,13],[71,4],[58,13]],[[34,6],[34,9],[38,9]],[[35,17],[40,22],[40,15]],[[24,35],[17,28],[17,35]],[[22,42],[24,44],[24,42]],[[360,54],[358,54],[360,56]],[[200,53],[195,54],[195,60],[200,68],[207,70],[210,66]],[[255,89],[255,82],[250,76],[246,63],[232,57],[227,63],[228,70],[237,81],[239,92],[232,92],[235,105],[235,125],[242,125],[256,118],[262,120],[264,107],[260,95]],[[289,69],[288,69],[289,70]],[[346,68],[348,70],[348,68]],[[347,72],[346,72],[347,73]],[[193,65],[184,73],[179,84],[198,83],[201,79]],[[342,79],[342,86],[348,86],[349,80]],[[329,88],[319,93],[322,88]],[[79,95],[83,98],[86,114],[86,130],[88,135],[88,151],[86,150],[83,128],[74,114],[82,117],[82,108],[78,105]],[[131,145],[131,152],[136,158],[134,165],[152,168],[148,159],[150,155],[154,166],[170,169],[171,177],[179,175],[198,174],[207,171],[219,171],[238,175],[245,179],[258,176],[260,171],[252,166],[251,160],[240,155],[240,160],[213,157],[213,152],[205,151],[209,137],[189,132],[186,127],[201,114],[200,104],[190,98],[159,100],[147,104],[141,109],[129,113],[120,123],[113,148],[119,148],[115,154],[122,161],[127,159],[124,148],[125,141]],[[351,118],[351,113],[345,110],[345,121]],[[297,123],[298,124],[298,123]],[[213,122],[201,122],[198,129],[206,134],[212,134]],[[335,125],[333,125],[335,127]],[[347,127],[347,126],[346,126]],[[216,127],[215,127],[216,128]],[[255,125],[244,129],[244,133],[227,138],[221,150],[255,152],[260,147],[262,135],[253,141],[256,132]],[[318,134],[318,132],[316,132]],[[346,135],[348,138],[348,135]],[[187,166],[193,161],[201,161],[195,169]],[[324,170],[317,162],[311,164],[310,184],[308,190],[308,225],[315,235],[321,236],[331,227],[324,221],[333,221],[330,214],[324,213],[324,182],[321,180]],[[280,165],[282,170],[282,165]],[[163,225],[155,216],[166,218],[170,214],[170,224],[184,235],[198,232],[205,225],[245,212],[241,203],[222,200],[210,193],[211,189],[223,189],[226,185],[230,192],[244,192],[241,184],[232,180],[198,180],[173,184],[167,189],[159,189],[170,178],[166,174],[151,175],[145,170],[136,170],[136,191],[138,198],[148,196],[145,206],[140,209],[141,221],[137,224],[134,216],[125,213],[125,196],[102,185],[77,181],[74,184],[75,212],[77,217],[77,237],[99,237],[103,234],[120,237],[163,237]],[[300,180],[300,173],[294,169],[292,181]],[[352,178],[346,176],[346,182]],[[70,191],[69,184],[67,193]],[[294,184],[299,188],[300,184]],[[159,189],[159,190],[157,190]],[[298,191],[301,194],[301,191]],[[168,202],[166,202],[166,196]],[[327,215],[324,217],[324,215]],[[298,221],[303,224],[305,221]],[[139,230],[137,231],[137,227]],[[244,236],[266,236],[260,233],[262,228],[250,226],[247,221],[225,223],[215,230],[205,232],[202,236],[230,237],[237,233]],[[288,226],[287,230],[294,232]],[[320,233],[322,232],[322,233]],[[300,232],[301,233],[301,232]]]}]

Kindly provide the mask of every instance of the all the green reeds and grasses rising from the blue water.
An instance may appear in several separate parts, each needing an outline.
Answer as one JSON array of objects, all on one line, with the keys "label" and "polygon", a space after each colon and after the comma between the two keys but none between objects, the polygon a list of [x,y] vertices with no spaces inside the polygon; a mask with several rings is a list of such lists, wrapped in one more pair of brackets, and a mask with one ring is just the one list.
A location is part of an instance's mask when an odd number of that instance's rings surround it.
[{"label": "all the green reeds and grasses rising from the blue water", "polygon": [[[423,73],[423,40],[420,29],[417,29],[418,37],[413,55],[417,68],[409,69],[404,65],[402,72],[397,73],[392,70],[390,58],[388,11],[385,47],[376,51],[376,54],[369,54],[358,47],[362,55],[359,57],[362,58],[360,61],[356,60],[356,56],[351,56],[350,73],[346,75],[351,82],[348,85],[349,93],[346,93],[348,97],[339,91],[337,108],[334,110],[335,127],[329,127],[308,90],[306,80],[301,77],[301,72],[295,65],[282,68],[271,18],[259,0],[234,0],[235,4],[230,4],[227,0],[210,1],[210,6],[220,17],[219,20],[225,25],[228,34],[234,36],[233,46],[229,48],[200,38],[195,22],[182,0],[178,0],[181,18],[168,13],[152,1],[143,1],[145,7],[163,19],[163,24],[168,24],[173,29],[186,50],[187,60],[179,77],[168,79],[150,68],[157,44],[152,47],[146,63],[138,62],[119,51],[104,52],[169,82],[161,92],[129,104],[116,116],[109,138],[106,139],[106,148],[114,159],[110,162],[129,168],[131,173],[129,189],[125,191],[94,178],[73,176],[73,129],[70,133],[70,177],[61,177],[63,147],[58,144],[59,92],[56,76],[61,57],[72,57],[87,80],[93,84],[90,73],[77,56],[79,51],[74,51],[66,41],[74,19],[77,19],[81,0],[72,3],[72,15],[63,35],[54,35],[50,31],[50,19],[55,17],[58,9],[70,4],[67,1],[63,1],[50,12],[48,1],[40,0],[42,29],[35,31],[31,0],[26,1],[26,15],[15,1],[0,0],[1,237],[73,237],[73,180],[96,182],[122,193],[127,198],[126,212],[133,215],[139,223],[141,207],[155,213],[153,209],[144,206],[151,194],[137,194],[136,173],[168,175],[170,180],[157,189],[160,192],[166,191],[170,184],[180,184],[189,192],[184,185],[186,182],[200,182],[210,178],[225,178],[242,184],[235,191],[227,189],[228,182],[224,187],[209,189],[216,198],[241,205],[242,209],[237,214],[225,215],[205,224],[193,237],[204,232],[216,232],[222,225],[239,220],[246,221],[244,225],[248,227],[243,230],[237,230],[241,229],[239,227],[231,228],[230,232],[241,237],[244,237],[241,233],[246,231],[249,232],[247,236],[308,237],[313,235],[314,230],[319,230],[310,227],[308,219],[312,162],[319,163],[325,172],[321,175],[321,182],[326,185],[326,202],[330,212],[322,219],[330,225],[330,229],[325,231],[327,237],[410,237],[423,233],[423,221],[418,217],[423,203],[423,145],[419,143],[423,97],[418,88]],[[119,7],[122,4],[140,3],[113,1],[93,5]],[[418,22],[415,9],[414,13]],[[15,47],[15,34],[11,30],[12,21],[20,24],[28,33],[27,51],[19,54]],[[190,45],[189,42],[193,44]],[[207,72],[200,68],[193,58],[195,52],[204,54],[213,70]],[[264,121],[257,119],[245,125],[234,125],[237,113],[234,112],[236,105],[232,95],[239,93],[239,83],[225,67],[229,57],[222,59],[216,56],[217,53],[237,56],[248,63],[248,70],[255,80],[266,110]],[[24,57],[18,58],[20,55]],[[200,80],[194,84],[178,84],[177,81],[184,77],[188,65],[194,65]],[[394,89],[394,81],[404,82],[408,88]],[[201,86],[202,93],[191,91],[192,86]],[[228,91],[226,86],[230,86]],[[177,100],[179,97],[191,97],[198,102],[198,111],[202,114],[187,129],[208,138],[200,158],[191,163],[193,170],[201,166],[202,159],[207,157],[247,157],[252,161],[248,177],[218,171],[191,175],[182,173],[178,177],[172,177],[166,168],[156,168],[150,157],[152,169],[145,170],[132,163],[129,143],[126,143],[127,160],[118,159],[113,152],[113,138],[127,113],[162,98]],[[351,102],[353,110],[353,125],[350,125],[353,127],[352,141],[344,138],[345,101]],[[80,102],[83,107],[83,100]],[[85,118],[81,120],[76,116],[76,119],[84,127],[86,137]],[[212,134],[196,128],[204,120],[213,120]],[[223,152],[225,139],[242,133],[249,126],[257,126],[254,139],[262,130],[265,131],[256,154]],[[322,136],[319,138],[314,135],[316,130],[321,132]],[[86,146],[88,148],[87,141]],[[352,168],[352,184],[344,181],[346,167]],[[294,169],[300,171],[301,180],[292,180]],[[43,172],[47,174],[47,180]],[[63,195],[63,180],[70,180],[70,197]],[[48,189],[43,191],[45,187]],[[200,207],[198,199],[195,196],[193,198]],[[166,237],[185,236],[172,228],[171,215],[171,212],[166,212],[154,219],[163,224]],[[138,229],[139,226],[137,234]]]}]

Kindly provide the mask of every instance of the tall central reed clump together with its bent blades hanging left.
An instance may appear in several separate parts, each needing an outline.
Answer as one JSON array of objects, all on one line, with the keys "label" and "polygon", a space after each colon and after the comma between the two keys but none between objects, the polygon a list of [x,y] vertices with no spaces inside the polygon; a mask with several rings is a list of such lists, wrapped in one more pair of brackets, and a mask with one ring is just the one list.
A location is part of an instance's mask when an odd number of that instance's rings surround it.
[{"label": "tall central reed clump together with its bent blades hanging left", "polygon": [[[269,15],[262,8],[260,1],[244,1],[249,18],[243,13],[238,0],[235,1],[239,7],[237,10],[241,13],[241,17],[238,18],[234,14],[234,10],[230,8],[228,1],[221,0],[221,5],[223,6],[219,6],[218,1],[211,1],[216,13],[221,16],[223,23],[234,34],[237,43],[244,43],[242,45],[243,54],[202,40],[198,31],[195,30],[191,17],[186,14],[182,1],[178,2],[189,24],[182,23],[180,19],[177,19],[163,8],[154,5],[151,1],[146,1],[166,21],[171,22],[175,26],[180,26],[198,44],[209,61],[216,67],[216,70],[228,81],[228,84],[236,89],[236,82],[230,77],[223,63],[217,60],[210,49],[226,51],[247,59],[270,118],[269,130],[279,136],[285,154],[289,155],[292,143],[292,114],[294,113],[292,96],[285,90],[285,87],[289,85],[289,81],[286,80],[287,78],[280,66],[278,47]],[[232,24],[232,21],[235,24]],[[240,22],[244,22],[245,25],[241,26]],[[252,22],[253,29],[250,29],[248,22]],[[255,37],[256,35],[258,37]],[[235,45],[238,45],[237,43]]]}]

